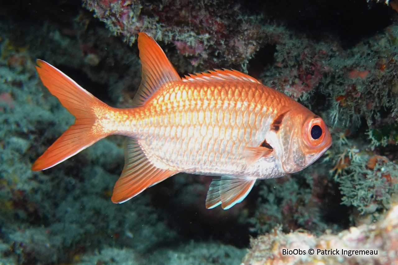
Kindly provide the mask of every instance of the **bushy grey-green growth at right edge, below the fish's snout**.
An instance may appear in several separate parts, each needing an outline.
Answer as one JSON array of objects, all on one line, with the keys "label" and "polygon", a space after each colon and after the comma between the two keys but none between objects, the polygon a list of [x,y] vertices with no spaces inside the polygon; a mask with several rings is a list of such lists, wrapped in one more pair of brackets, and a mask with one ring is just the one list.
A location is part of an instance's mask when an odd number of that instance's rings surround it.
[{"label": "bushy grey-green growth at right edge, below the fish's snout", "polygon": [[391,206],[398,192],[398,165],[385,156],[345,147],[332,169],[340,183],[342,203],[361,212],[374,213]]}]

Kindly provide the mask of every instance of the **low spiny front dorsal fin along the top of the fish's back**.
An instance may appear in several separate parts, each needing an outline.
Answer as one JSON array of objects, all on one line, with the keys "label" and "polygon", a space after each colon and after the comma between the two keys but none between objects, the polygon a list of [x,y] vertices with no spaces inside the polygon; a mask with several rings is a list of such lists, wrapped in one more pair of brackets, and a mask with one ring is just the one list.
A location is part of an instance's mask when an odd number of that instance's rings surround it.
[{"label": "low spiny front dorsal fin along the top of the fish's back", "polygon": [[208,73],[189,74],[182,79],[184,82],[213,82],[213,81],[248,81],[261,84],[257,79],[236,70],[216,69]]}]

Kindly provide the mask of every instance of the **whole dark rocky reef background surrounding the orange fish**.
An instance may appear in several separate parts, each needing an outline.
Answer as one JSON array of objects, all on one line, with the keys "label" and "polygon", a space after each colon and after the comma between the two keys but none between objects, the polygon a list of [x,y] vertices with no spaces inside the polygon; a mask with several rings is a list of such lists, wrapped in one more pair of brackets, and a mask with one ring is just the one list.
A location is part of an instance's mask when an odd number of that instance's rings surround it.
[{"label": "whole dark rocky reef background surrounding the orange fish", "polygon": [[[398,264],[398,1],[21,0],[0,4],[0,265]],[[37,58],[113,107],[140,84],[137,33],[183,76],[233,68],[328,124],[312,166],[205,208],[180,173],[117,205],[121,136],[31,165],[74,122]],[[377,255],[282,255],[344,248]]]}]

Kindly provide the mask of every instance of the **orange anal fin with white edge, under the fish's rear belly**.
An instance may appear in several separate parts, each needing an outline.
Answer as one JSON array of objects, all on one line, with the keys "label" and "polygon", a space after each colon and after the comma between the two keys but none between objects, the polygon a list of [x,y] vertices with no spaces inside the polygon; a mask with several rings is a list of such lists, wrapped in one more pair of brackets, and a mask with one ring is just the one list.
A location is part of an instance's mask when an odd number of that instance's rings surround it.
[{"label": "orange anal fin with white edge, under the fish's rear belly", "polygon": [[125,150],[125,166],[113,188],[112,202],[124,203],[146,188],[178,173],[154,167],[137,140],[129,139]]}]

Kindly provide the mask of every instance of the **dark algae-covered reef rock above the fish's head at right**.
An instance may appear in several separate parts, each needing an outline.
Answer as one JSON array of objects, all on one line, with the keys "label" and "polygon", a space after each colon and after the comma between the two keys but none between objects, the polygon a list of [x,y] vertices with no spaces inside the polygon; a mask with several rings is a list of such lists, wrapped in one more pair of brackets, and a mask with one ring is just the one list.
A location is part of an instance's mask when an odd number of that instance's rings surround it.
[{"label": "dark algae-covered reef rock above the fish's head at right", "polygon": [[370,125],[381,119],[376,115],[380,109],[390,110],[394,117],[398,103],[396,24],[349,49],[333,39],[314,43],[293,32],[282,36],[276,44],[277,67],[261,76],[265,84],[308,105],[314,105],[310,95],[316,92],[334,99],[327,113],[331,125],[338,121],[345,127],[352,122],[359,125],[360,117]]}]

